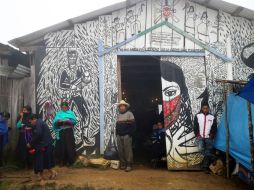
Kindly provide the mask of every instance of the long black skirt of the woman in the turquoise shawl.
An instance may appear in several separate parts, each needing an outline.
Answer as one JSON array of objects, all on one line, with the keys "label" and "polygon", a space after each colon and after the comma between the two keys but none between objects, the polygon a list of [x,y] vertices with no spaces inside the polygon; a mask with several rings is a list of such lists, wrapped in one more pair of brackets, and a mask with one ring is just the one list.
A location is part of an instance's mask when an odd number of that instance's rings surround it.
[{"label": "long black skirt of the woman in the turquoise shawl", "polygon": [[56,141],[55,147],[55,160],[61,165],[71,165],[76,159],[73,129],[64,129],[59,135],[60,139]]}]

